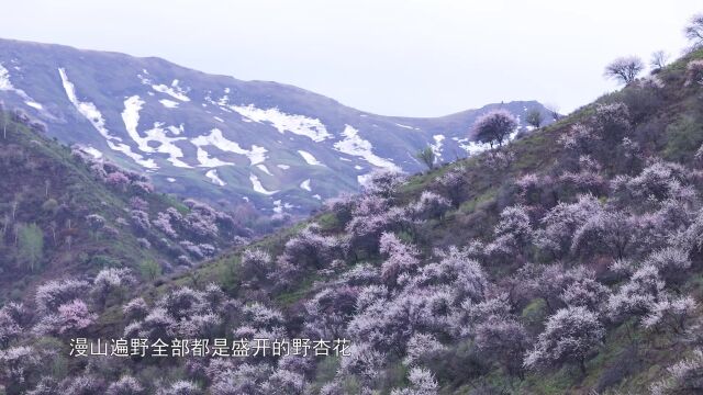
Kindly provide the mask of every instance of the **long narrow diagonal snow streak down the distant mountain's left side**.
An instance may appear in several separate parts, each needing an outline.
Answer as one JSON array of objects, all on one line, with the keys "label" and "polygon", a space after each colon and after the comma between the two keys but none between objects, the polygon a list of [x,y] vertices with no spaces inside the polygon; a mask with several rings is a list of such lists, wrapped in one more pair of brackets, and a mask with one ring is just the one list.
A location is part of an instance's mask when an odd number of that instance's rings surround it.
[{"label": "long narrow diagonal snow streak down the distant mountain's left side", "polygon": [[122,138],[111,135],[110,131],[108,131],[108,128],[105,127],[105,120],[102,117],[100,111],[98,111],[96,104],[91,102],[81,102],[80,100],[78,100],[78,95],[76,94],[76,87],[68,80],[66,70],[64,68],[59,68],[58,74],[62,78],[64,91],[66,92],[66,97],[68,98],[68,100],[71,102],[71,104],[74,104],[76,110],[78,110],[78,112],[82,116],[85,116],[90,122],[90,124],[92,124],[96,131],[98,131],[98,133],[102,135],[110,149],[126,155],[144,168],[153,170],[158,169],[158,166],[156,165],[154,159],[144,159],[144,157],[140,154],[133,153],[132,147],[124,143],[121,143]]}]

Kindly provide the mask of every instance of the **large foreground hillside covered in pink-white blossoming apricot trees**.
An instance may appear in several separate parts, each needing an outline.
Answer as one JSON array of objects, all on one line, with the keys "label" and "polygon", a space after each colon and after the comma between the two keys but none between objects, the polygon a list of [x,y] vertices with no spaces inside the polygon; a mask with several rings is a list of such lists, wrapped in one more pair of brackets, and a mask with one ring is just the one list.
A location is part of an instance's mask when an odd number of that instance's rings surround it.
[{"label": "large foreground hillside covered in pink-white blossoming apricot trees", "polygon": [[[702,60],[694,52],[470,159],[408,179],[377,173],[364,194],[192,270],[132,287],[107,274],[45,286],[0,311],[2,383],[70,394],[700,393]],[[72,338],[119,336],[352,346],[348,357],[68,357]]]}]

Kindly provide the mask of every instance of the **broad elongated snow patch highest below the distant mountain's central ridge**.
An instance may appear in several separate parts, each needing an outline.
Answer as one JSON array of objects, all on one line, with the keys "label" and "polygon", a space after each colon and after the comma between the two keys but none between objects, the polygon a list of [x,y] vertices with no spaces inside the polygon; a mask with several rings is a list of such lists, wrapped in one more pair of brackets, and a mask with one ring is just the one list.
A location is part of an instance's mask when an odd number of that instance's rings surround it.
[{"label": "broad elongated snow patch highest below the distant mountain's central ridge", "polygon": [[[224,98],[226,98],[226,95]],[[221,99],[219,104],[226,106],[226,100],[223,101]],[[254,104],[249,104],[230,105],[228,109],[236,111],[239,115],[250,121],[257,123],[268,122],[281,134],[290,132],[299,136],[308,137],[316,143],[333,137],[320,120],[304,115],[287,114],[278,110],[278,108],[263,110],[256,108]]]}]

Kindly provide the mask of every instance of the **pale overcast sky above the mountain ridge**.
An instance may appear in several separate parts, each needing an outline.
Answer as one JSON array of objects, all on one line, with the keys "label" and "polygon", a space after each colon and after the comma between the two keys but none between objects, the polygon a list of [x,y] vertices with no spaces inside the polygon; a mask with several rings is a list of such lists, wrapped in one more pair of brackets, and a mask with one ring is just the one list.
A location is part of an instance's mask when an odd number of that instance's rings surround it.
[{"label": "pale overcast sky above the mountain ridge", "polygon": [[[2,4],[11,3],[11,5]],[[700,0],[0,0],[0,37],[159,56],[383,115],[511,100],[562,113],[618,56],[676,58]]]}]

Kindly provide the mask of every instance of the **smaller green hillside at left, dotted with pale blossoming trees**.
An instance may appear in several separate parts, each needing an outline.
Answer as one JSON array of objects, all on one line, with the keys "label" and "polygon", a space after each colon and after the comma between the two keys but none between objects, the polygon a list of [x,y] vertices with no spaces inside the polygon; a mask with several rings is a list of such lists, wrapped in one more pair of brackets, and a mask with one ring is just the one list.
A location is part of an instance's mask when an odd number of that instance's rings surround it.
[{"label": "smaller green hillside at left, dotted with pale blossoming trees", "polygon": [[2,300],[101,269],[131,269],[148,281],[242,242],[254,236],[250,227],[271,226],[253,208],[227,214],[157,193],[146,176],[48,138],[22,111],[0,105],[0,121]]}]

